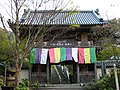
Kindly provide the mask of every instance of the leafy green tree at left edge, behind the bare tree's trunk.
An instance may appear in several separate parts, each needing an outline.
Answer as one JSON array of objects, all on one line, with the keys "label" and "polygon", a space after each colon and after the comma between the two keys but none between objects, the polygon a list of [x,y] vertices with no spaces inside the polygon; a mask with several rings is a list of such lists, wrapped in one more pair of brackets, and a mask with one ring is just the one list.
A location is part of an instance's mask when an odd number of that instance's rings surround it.
[{"label": "leafy green tree at left edge, behind the bare tree's trunk", "polygon": [[[4,32],[2,28],[0,28],[0,63],[5,65],[12,64],[14,59],[14,50],[11,48],[11,43],[14,45],[14,35],[9,32],[9,39],[7,37],[7,33]],[[4,73],[5,66],[0,66],[0,74]]]}]

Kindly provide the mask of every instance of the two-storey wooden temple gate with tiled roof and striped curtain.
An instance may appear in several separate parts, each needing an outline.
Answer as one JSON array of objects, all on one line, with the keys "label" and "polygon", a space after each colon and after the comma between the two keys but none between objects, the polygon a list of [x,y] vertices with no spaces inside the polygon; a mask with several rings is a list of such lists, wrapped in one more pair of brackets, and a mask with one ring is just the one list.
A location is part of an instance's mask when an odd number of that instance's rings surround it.
[{"label": "two-storey wooden temple gate with tiled roof and striped curtain", "polygon": [[107,24],[99,12],[25,10],[20,24],[22,31],[31,26],[32,30],[42,26],[52,28],[42,42],[38,37],[31,50],[29,79],[32,83],[95,82],[97,59],[91,28]]}]

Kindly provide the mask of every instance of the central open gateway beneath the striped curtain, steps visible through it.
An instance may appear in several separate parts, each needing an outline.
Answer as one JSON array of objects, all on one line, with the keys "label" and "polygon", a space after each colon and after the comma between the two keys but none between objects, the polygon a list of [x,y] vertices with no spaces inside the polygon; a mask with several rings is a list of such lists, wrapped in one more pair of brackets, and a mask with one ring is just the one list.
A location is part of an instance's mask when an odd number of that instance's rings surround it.
[{"label": "central open gateway beneath the striped curtain, steps visible through it", "polygon": [[51,65],[50,83],[52,84],[72,84],[77,83],[76,63],[65,61],[57,65]]}]

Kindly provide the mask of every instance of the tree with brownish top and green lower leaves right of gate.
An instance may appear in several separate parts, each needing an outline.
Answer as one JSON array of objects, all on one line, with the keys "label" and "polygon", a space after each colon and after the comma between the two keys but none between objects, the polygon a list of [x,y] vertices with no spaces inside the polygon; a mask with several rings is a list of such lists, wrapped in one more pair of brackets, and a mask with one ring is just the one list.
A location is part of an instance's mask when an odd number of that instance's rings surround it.
[{"label": "tree with brownish top and green lower leaves right of gate", "polygon": [[97,46],[98,60],[106,60],[112,56],[120,56],[119,34],[120,19],[108,21],[107,25],[92,28],[93,41]]}]

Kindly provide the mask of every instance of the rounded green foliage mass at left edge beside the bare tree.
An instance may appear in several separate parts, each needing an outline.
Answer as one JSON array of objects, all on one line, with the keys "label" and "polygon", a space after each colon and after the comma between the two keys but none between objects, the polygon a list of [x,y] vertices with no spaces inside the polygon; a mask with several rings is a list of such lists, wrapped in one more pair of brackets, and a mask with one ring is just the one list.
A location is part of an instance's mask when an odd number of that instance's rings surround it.
[{"label": "rounded green foliage mass at left edge beside the bare tree", "polygon": [[[8,36],[10,37],[9,39]],[[14,49],[11,47],[11,45],[14,45],[13,37],[14,36],[11,32],[8,35],[0,29],[0,62],[13,61]]]}]

